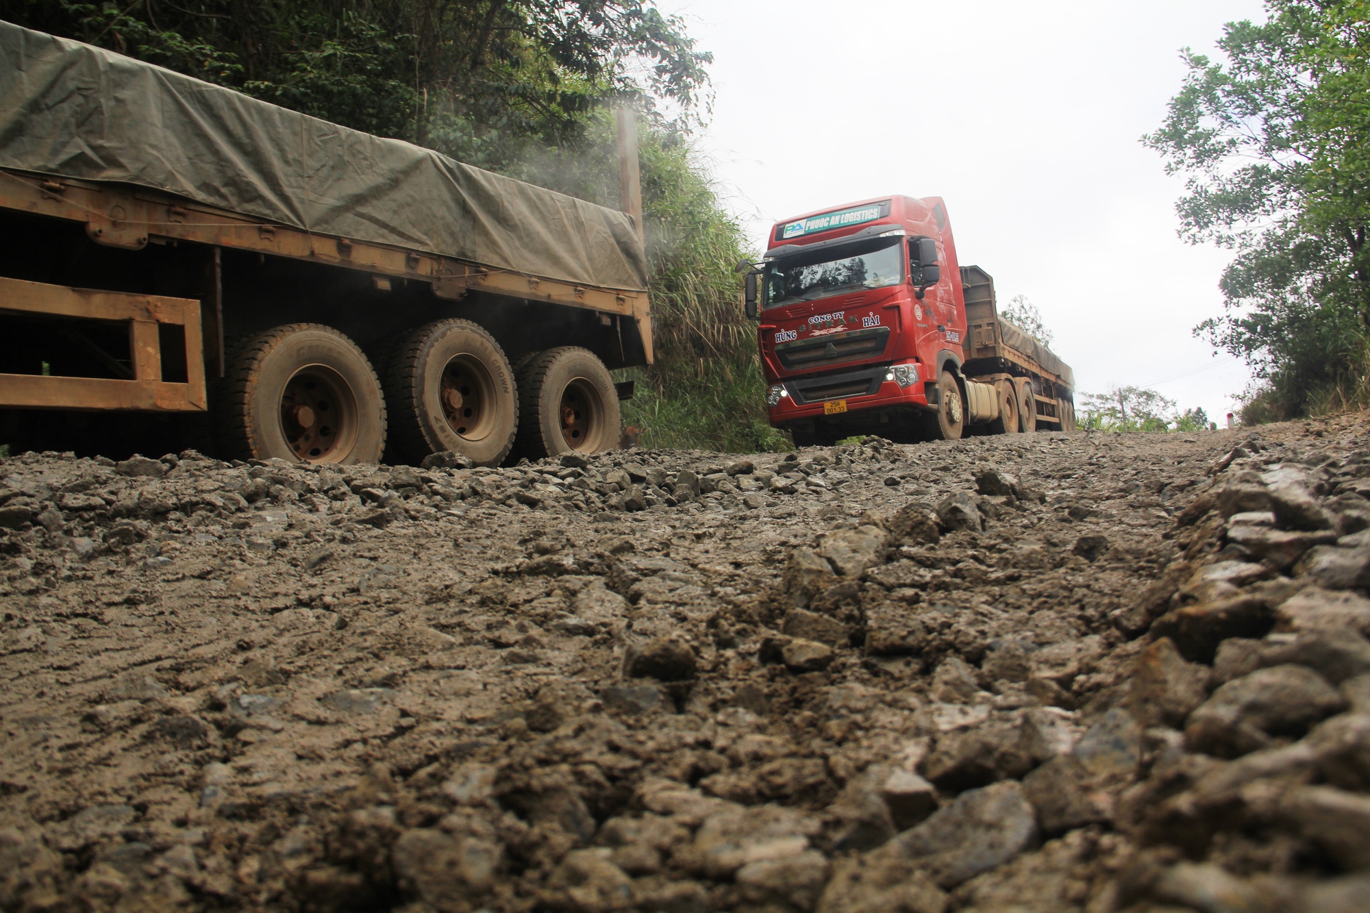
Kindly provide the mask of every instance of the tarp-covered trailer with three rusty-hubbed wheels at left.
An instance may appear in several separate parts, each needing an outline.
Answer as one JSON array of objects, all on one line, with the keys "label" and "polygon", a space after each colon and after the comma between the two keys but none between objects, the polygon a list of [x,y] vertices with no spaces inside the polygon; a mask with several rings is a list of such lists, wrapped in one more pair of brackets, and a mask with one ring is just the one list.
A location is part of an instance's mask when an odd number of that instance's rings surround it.
[{"label": "tarp-covered trailer with three rusty-hubbed wheels at left", "polygon": [[311,463],[614,447],[610,369],[652,361],[636,141],[621,117],[621,212],[0,22],[0,426],[200,414],[226,458]]}]

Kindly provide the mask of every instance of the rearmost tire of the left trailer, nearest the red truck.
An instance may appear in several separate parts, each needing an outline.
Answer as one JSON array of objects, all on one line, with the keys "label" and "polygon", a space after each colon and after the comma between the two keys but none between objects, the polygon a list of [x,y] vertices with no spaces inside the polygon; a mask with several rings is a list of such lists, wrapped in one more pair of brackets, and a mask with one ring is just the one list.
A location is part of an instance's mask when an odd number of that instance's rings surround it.
[{"label": "rearmost tire of the left trailer, nearest the red truck", "polygon": [[618,391],[588,348],[562,345],[529,361],[518,377],[518,448],[529,459],[618,446]]}]

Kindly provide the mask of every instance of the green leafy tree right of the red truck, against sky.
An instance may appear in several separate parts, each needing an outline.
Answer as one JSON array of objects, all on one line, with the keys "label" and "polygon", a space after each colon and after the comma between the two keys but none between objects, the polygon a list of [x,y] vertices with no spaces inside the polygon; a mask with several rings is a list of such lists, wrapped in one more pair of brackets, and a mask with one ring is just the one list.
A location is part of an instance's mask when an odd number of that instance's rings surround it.
[{"label": "green leafy tree right of the red truck, against sky", "polygon": [[1370,0],[1267,0],[1232,22],[1144,143],[1186,177],[1181,236],[1232,248],[1226,313],[1196,333],[1241,355],[1269,414],[1365,382],[1370,333]]}]

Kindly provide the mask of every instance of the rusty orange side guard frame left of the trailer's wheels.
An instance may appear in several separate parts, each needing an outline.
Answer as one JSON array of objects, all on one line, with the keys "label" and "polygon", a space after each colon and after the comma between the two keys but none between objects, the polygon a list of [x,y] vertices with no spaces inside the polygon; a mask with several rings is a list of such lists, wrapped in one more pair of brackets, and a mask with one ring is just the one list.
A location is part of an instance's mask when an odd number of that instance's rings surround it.
[{"label": "rusty orange side guard frame left of the trailer's wheels", "polygon": [[[127,322],[133,380],[0,374],[0,407],[185,413],[207,409],[200,302],[0,277],[0,314]],[[186,382],[162,380],[159,324],[185,329]]]}]

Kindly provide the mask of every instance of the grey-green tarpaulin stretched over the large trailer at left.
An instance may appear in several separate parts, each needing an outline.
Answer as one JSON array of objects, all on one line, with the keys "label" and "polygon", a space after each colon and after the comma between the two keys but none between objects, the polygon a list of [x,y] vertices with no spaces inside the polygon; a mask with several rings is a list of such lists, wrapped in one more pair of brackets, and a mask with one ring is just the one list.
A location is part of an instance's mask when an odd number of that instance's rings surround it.
[{"label": "grey-green tarpaulin stretched over the large trailer at left", "polygon": [[8,22],[0,167],[153,188],[529,276],[647,288],[623,212]]}]

